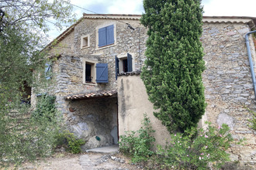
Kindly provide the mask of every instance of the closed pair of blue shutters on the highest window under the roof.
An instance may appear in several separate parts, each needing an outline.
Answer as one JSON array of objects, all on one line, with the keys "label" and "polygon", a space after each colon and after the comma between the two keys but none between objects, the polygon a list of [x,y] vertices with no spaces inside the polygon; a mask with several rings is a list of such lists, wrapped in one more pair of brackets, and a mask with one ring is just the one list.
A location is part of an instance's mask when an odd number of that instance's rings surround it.
[{"label": "closed pair of blue shutters on the highest window under the roof", "polygon": [[114,25],[99,29],[99,47],[108,46],[115,43]]}]

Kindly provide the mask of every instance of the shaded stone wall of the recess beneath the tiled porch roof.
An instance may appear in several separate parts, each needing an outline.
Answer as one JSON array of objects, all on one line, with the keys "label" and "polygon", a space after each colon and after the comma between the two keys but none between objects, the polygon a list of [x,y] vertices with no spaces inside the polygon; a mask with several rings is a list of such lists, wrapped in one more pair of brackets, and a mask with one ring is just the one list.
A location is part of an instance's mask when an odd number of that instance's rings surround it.
[{"label": "shaded stone wall of the recess beneath the tiled porch roof", "polygon": [[116,97],[87,100],[64,100],[63,97],[57,97],[57,103],[64,117],[64,127],[85,140],[83,150],[117,144]]}]

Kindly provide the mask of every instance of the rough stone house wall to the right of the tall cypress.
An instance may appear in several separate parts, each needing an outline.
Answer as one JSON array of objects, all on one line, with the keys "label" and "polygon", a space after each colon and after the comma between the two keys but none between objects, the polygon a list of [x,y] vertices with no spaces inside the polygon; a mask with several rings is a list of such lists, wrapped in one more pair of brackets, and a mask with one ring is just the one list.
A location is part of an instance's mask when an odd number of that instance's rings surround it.
[{"label": "rough stone house wall to the right of the tall cypress", "polygon": [[[235,161],[256,162],[255,131],[248,128],[255,110],[254,89],[244,36],[246,24],[205,24],[202,33],[206,70],[203,73],[206,114],[203,120],[228,124],[235,139],[246,138],[247,145],[231,148]],[[251,41],[251,45],[253,45]],[[252,46],[251,46],[252,47]],[[252,55],[255,61],[255,51]]]}]

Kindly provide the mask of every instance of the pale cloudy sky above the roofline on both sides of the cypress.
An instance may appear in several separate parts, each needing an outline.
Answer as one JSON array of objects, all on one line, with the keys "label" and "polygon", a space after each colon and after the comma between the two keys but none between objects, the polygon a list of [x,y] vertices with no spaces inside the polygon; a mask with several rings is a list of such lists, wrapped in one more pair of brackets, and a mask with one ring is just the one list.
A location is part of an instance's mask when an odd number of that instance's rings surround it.
[{"label": "pale cloudy sky above the roofline on both sides of the cypress", "polygon": [[[71,0],[71,4],[86,8],[99,14],[142,14],[143,0]],[[206,16],[252,16],[256,17],[256,0],[202,0]],[[83,12],[92,13],[74,7],[77,18]],[[61,31],[62,32],[62,31]],[[61,34],[57,29],[49,32],[50,39]]]}]

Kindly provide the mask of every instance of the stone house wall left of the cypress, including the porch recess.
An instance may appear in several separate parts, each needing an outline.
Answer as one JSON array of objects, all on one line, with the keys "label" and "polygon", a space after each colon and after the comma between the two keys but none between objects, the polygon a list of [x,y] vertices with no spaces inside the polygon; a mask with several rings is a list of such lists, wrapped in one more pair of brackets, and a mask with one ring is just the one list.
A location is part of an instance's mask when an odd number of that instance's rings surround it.
[{"label": "stone house wall left of the cypress, including the porch recess", "polygon": [[[135,29],[129,29],[125,22],[132,23]],[[116,26],[116,45],[99,49],[96,28],[109,23]],[[89,36],[90,43],[81,49],[81,37],[85,35]],[[115,57],[133,54],[134,70],[140,70],[146,37],[146,29],[140,26],[138,20],[84,19],[50,49],[50,56],[61,56],[53,61],[53,85],[49,93],[56,95],[57,108],[63,114],[69,131],[87,142],[84,149],[117,144],[117,99],[68,101],[64,97],[74,93],[116,89]],[[83,83],[83,59],[108,63],[109,83]],[[95,139],[96,135],[101,141]]]}]

